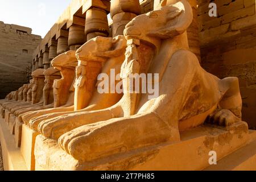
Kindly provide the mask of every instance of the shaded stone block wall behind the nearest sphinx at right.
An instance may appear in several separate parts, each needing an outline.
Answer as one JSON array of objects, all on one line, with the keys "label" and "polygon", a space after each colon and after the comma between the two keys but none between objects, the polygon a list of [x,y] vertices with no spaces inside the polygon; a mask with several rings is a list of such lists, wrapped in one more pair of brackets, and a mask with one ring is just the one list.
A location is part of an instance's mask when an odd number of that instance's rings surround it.
[{"label": "shaded stone block wall behind the nearest sphinx at right", "polygon": [[238,77],[243,121],[256,128],[255,0],[219,0],[217,17],[208,15],[210,0],[199,0],[201,63],[210,73]]}]

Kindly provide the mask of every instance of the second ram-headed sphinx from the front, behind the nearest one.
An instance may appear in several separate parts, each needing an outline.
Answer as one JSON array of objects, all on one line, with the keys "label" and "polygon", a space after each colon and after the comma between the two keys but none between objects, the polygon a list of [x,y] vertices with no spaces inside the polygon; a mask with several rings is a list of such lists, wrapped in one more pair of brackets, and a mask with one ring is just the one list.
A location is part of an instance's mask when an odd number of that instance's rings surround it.
[{"label": "second ram-headed sphinx from the front, behind the nearest one", "polygon": [[[84,46],[77,50],[76,57],[79,65],[76,69],[75,81],[75,111],[67,109],[54,110],[51,114],[46,110],[38,111],[44,113],[40,117],[39,114],[28,113],[21,116],[21,119],[32,129],[37,130],[41,121],[49,118],[55,118],[59,115],[77,113],[82,111],[104,109],[116,104],[122,94],[106,93],[99,94],[97,92],[97,76],[100,73],[110,75],[110,69],[120,72],[123,59],[125,59],[126,39],[124,36],[115,38],[104,38],[98,36],[89,40]],[[117,84],[117,82],[114,82]]]}]

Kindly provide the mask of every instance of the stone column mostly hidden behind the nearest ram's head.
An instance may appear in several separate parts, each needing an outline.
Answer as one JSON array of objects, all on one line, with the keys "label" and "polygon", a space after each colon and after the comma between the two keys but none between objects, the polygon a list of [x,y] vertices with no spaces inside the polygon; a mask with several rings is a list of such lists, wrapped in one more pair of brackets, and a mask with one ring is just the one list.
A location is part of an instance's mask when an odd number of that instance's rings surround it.
[{"label": "stone column mostly hidden behind the nearest ram's head", "polygon": [[[180,0],[155,0],[154,9],[157,9],[160,6],[172,5]],[[195,53],[199,61],[201,62],[201,53],[200,53],[200,40],[199,40],[199,23],[197,20],[197,1],[196,0],[186,0],[190,3],[193,9],[193,22],[191,26],[187,29],[188,35],[188,46],[191,52]]]}]

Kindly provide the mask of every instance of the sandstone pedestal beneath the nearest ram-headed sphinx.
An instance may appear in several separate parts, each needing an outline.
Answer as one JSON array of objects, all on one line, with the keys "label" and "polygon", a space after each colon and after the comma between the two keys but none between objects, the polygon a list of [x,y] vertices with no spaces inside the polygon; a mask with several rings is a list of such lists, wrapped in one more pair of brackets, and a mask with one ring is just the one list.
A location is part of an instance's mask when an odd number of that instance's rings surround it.
[{"label": "sandstone pedestal beneath the nearest ram-headed sphinx", "polygon": [[[256,147],[256,131],[248,130],[247,123],[239,122],[230,127],[202,125],[181,132],[180,142],[139,148],[124,154],[92,162],[80,162],[62,150],[57,141],[38,135],[35,142],[36,170],[203,170],[210,169],[209,152],[215,151],[218,163],[232,152],[243,151],[244,146]],[[250,151],[246,150],[246,153]],[[241,155],[249,155],[249,154]],[[256,169],[256,153],[249,161]],[[246,159],[241,157],[241,159]],[[214,165],[225,170],[222,165]],[[68,165],[67,165],[68,164]],[[242,164],[242,162],[240,163]],[[240,164],[237,164],[239,166]],[[226,164],[229,166],[229,164]],[[230,169],[236,169],[236,167]],[[241,167],[241,169],[243,169]],[[247,168],[244,168],[247,169]]]}]

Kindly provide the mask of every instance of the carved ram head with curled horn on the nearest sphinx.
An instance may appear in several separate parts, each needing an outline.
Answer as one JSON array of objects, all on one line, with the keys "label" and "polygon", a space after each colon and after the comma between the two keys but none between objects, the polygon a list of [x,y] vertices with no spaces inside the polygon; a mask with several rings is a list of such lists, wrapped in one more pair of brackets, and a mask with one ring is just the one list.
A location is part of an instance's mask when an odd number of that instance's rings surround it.
[{"label": "carved ram head with curled horn on the nearest sphinx", "polygon": [[135,17],[126,25],[124,34],[127,39],[135,38],[156,44],[160,39],[183,34],[192,19],[191,6],[187,1],[180,1]]}]

